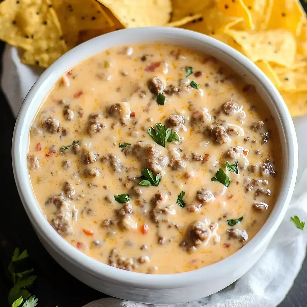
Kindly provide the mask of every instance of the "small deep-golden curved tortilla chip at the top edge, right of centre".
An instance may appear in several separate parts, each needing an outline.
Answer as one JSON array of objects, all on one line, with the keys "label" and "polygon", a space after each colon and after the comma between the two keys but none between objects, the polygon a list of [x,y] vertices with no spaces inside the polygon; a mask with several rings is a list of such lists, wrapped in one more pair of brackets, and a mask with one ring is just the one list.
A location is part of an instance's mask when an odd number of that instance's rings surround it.
[{"label": "small deep-golden curved tortilla chip at the top edge, right of centre", "polygon": [[219,0],[217,6],[223,16],[242,17],[246,24],[246,29],[253,30],[255,28],[251,13],[243,3],[243,0]]}]

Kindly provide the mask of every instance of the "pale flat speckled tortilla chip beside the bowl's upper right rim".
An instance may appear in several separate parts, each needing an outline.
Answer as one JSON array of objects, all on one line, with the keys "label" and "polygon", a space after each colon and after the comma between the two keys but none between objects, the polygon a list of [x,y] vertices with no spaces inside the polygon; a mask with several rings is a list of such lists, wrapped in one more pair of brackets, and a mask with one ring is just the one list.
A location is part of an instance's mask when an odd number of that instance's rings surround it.
[{"label": "pale flat speckled tortilla chip beside the bowl's upper right rim", "polygon": [[296,54],[296,41],[292,33],[284,30],[247,32],[228,30],[234,40],[241,45],[246,56],[256,62],[266,60],[291,67]]}]

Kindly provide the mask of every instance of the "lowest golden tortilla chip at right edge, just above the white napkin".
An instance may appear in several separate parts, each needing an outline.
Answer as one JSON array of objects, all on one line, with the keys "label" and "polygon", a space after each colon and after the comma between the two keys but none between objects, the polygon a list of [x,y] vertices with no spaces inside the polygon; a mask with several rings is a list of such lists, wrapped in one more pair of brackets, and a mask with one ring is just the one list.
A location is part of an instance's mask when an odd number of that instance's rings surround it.
[{"label": "lowest golden tortilla chip at right edge, just above the white napkin", "polygon": [[291,116],[302,116],[307,114],[307,91],[290,93],[280,91],[282,98],[289,109]]}]

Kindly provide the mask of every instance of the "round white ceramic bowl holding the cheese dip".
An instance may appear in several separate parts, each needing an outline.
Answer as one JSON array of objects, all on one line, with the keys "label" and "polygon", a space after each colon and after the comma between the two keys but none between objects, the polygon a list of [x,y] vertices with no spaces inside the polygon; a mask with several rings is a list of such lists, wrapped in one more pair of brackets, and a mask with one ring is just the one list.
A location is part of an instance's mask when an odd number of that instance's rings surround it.
[{"label": "round white ceramic bowl holding the cheese dip", "polygon": [[[115,45],[163,42],[215,56],[253,84],[273,115],[282,146],[282,181],[268,220],[246,246],[210,266],[179,274],[142,274],[94,260],[67,243],[45,219],[36,201],[27,168],[29,131],[37,110],[56,80],[80,61]],[[200,33],[164,27],[119,30],[96,37],[67,52],[33,85],[19,112],[12,146],[16,185],[29,219],[45,248],[70,274],[111,296],[151,304],[181,303],[215,293],[241,277],[262,255],[282,221],[297,173],[297,139],[282,97],[268,78],[245,56]],[[176,261],[176,255],[174,255]]]}]

